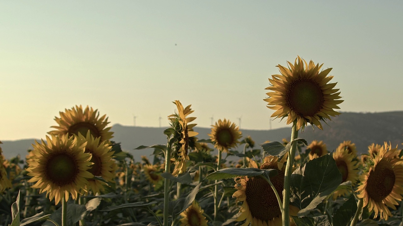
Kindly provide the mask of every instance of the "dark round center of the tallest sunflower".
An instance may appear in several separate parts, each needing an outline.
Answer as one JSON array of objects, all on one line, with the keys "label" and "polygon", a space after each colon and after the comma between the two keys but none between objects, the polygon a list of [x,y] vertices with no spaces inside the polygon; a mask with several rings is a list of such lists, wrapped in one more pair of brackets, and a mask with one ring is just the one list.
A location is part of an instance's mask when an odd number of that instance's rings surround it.
[{"label": "dark round center of the tallest sunflower", "polygon": [[323,107],[323,91],[314,80],[300,78],[290,83],[287,107],[300,116],[313,117]]}]

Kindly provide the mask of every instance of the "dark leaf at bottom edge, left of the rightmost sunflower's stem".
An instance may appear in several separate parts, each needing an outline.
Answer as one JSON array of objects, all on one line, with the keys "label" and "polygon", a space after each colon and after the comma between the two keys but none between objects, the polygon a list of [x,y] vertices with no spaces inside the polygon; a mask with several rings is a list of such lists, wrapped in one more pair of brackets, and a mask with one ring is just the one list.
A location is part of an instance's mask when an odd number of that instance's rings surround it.
[{"label": "dark leaf at bottom edge, left of the rightmost sunflower's stem", "polygon": [[351,196],[336,212],[333,214],[332,225],[347,225],[357,211],[357,203],[354,196]]}]

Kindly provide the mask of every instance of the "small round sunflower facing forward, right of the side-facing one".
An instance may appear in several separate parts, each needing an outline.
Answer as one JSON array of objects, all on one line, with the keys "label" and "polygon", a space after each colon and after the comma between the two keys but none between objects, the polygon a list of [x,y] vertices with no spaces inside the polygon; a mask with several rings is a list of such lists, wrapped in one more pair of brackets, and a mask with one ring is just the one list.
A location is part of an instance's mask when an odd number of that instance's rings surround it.
[{"label": "small round sunflower facing forward, right of the side-facing one", "polygon": [[235,148],[239,144],[239,139],[242,136],[241,131],[231,121],[218,119],[215,125],[211,128],[211,141],[214,143],[214,148],[222,152],[228,152],[230,148]]}]

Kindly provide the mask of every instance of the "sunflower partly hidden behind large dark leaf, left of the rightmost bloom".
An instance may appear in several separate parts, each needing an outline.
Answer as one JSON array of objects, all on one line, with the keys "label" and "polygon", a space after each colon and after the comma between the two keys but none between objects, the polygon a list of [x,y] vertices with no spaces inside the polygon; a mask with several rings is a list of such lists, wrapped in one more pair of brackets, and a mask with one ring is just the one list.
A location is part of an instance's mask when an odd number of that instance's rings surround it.
[{"label": "sunflower partly hidden behind large dark leaf, left of the rightmost bloom", "polygon": [[[349,153],[347,148],[337,148],[333,153],[333,158],[336,161],[337,168],[341,173],[342,181],[351,181],[351,186],[355,186],[358,180],[358,169],[357,169],[357,156],[353,155],[353,153]],[[347,189],[342,189],[339,191],[335,191],[333,193],[333,199],[336,199],[339,196],[347,195],[349,191]]]}]

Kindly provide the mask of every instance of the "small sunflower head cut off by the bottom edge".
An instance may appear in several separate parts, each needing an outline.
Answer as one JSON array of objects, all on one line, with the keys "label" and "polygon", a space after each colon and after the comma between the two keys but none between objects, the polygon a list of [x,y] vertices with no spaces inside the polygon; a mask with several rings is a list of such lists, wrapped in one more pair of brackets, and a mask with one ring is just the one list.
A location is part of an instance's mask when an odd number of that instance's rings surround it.
[{"label": "small sunflower head cut off by the bottom edge", "polygon": [[181,226],[207,226],[208,221],[203,213],[200,205],[193,201],[192,205],[181,213]]}]

